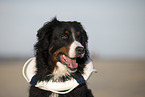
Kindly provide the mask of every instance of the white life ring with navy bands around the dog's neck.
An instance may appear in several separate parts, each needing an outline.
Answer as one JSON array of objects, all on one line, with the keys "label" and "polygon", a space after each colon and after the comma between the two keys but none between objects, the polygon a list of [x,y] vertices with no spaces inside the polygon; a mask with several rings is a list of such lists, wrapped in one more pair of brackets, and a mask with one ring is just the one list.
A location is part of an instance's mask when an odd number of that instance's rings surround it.
[{"label": "white life ring with navy bands around the dog's neck", "polygon": [[[61,64],[60,64],[61,66]],[[93,67],[92,60],[88,60],[85,63],[84,73],[79,74],[81,76],[73,76],[70,80],[65,82],[54,82],[52,79],[49,81],[39,81],[36,79],[36,58],[29,59],[23,67],[23,76],[27,80],[27,82],[31,83],[31,85],[38,87],[43,90],[51,91],[59,94],[66,94],[76,88],[78,85],[84,83],[89,79],[92,72],[95,71]],[[57,73],[58,74],[58,73]],[[62,74],[62,73],[61,73]],[[67,73],[64,73],[67,74]],[[63,75],[63,74],[62,74]],[[49,75],[48,75],[49,76]],[[82,80],[83,79],[83,80]]]}]

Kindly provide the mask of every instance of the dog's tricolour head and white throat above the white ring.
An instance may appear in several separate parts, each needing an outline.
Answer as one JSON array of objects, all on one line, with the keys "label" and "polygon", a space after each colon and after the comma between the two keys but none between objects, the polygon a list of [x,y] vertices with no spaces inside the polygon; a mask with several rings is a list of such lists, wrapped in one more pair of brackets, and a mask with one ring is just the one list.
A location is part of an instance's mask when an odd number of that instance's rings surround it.
[{"label": "dog's tricolour head and white throat above the white ring", "polygon": [[38,65],[49,66],[50,73],[56,78],[83,71],[88,56],[88,37],[79,22],[63,22],[54,18],[38,30],[37,37]]}]

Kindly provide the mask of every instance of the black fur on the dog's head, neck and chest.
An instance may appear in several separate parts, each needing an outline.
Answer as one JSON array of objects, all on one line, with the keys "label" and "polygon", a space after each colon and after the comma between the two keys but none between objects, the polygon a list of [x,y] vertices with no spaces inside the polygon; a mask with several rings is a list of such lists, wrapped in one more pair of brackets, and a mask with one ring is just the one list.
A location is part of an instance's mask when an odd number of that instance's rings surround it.
[{"label": "black fur on the dog's head, neck and chest", "polygon": [[[59,48],[63,46],[67,47],[72,43],[72,37],[64,34],[65,31],[71,32],[71,28],[74,28],[76,34],[79,32],[78,36],[76,35],[76,40],[79,41],[85,49],[84,57],[76,59],[79,64],[76,73],[72,73],[71,75],[78,76],[78,72],[83,73],[85,67],[84,63],[89,57],[87,49],[88,37],[85,30],[79,22],[64,22],[54,18],[52,21],[45,23],[44,26],[38,30],[38,42],[34,46],[36,51],[36,78],[39,81],[53,79],[54,75],[51,74],[56,66],[55,61],[53,61],[54,54]],[[59,61],[58,56],[56,59]],[[71,77],[70,75],[62,76],[58,80],[66,81]],[[29,91],[29,97],[49,97],[51,94],[52,92],[50,91],[41,90],[34,86],[31,86]],[[59,94],[58,97],[93,97],[93,95],[85,83],[67,94]]]}]

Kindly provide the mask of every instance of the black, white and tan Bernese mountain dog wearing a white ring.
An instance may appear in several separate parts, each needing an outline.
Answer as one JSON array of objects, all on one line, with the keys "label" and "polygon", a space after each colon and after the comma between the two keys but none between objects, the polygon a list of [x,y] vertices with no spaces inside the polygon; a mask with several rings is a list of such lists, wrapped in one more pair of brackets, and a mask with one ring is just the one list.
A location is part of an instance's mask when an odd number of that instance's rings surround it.
[{"label": "black, white and tan Bernese mountain dog wearing a white ring", "polygon": [[[29,97],[94,97],[82,76],[90,57],[88,36],[81,23],[59,21],[55,17],[38,30],[37,38],[34,45],[36,72],[30,82]],[[74,79],[79,84],[72,89],[65,88],[73,84]],[[50,80],[56,83],[52,87],[55,85],[54,88],[64,89],[53,92],[47,87],[35,86],[36,83]]]}]

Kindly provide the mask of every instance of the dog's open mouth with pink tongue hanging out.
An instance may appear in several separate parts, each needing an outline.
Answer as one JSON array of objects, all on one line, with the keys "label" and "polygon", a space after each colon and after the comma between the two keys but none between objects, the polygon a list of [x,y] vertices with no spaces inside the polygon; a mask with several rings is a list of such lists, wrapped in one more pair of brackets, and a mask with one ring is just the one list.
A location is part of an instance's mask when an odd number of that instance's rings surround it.
[{"label": "dog's open mouth with pink tongue hanging out", "polygon": [[64,54],[59,55],[60,62],[66,65],[71,71],[76,71],[78,67],[78,63],[76,62],[76,58],[69,58]]}]

